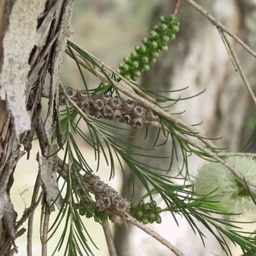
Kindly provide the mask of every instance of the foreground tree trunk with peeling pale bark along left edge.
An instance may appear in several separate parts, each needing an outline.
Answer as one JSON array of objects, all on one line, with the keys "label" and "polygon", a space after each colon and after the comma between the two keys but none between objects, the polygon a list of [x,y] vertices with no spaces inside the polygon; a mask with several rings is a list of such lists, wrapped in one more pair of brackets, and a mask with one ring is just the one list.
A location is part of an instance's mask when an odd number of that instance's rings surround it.
[{"label": "foreground tree trunk with peeling pale bark along left edge", "polygon": [[33,213],[24,212],[22,220],[15,223],[17,214],[10,188],[20,157],[27,152],[29,159],[47,70],[51,74],[52,99],[45,129],[51,136],[72,3],[73,0],[0,1],[0,255],[17,252],[15,239],[24,233],[19,227]]}]

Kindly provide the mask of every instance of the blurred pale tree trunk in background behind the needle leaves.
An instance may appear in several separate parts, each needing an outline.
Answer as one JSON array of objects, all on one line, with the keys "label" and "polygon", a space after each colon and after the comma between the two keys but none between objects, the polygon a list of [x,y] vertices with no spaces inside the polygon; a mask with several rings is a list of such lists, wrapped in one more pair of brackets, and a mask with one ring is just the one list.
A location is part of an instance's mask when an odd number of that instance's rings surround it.
[{"label": "blurred pale tree trunk in background behind the needle leaves", "polygon": [[[223,3],[221,0],[198,0],[196,3],[201,4],[252,49],[256,48],[253,22],[256,18],[255,1],[229,0]],[[158,23],[157,18],[160,15],[169,15],[172,10],[170,1],[161,1],[154,13],[152,25]],[[170,97],[174,99],[178,99],[180,95],[182,98],[190,97],[206,89],[198,97],[177,102],[170,108],[171,113],[181,113],[186,110],[186,113],[182,114],[183,120],[189,124],[203,122],[198,129],[205,136],[209,138],[223,136],[214,143],[230,151],[239,152],[244,145],[244,122],[248,116],[248,109],[252,107],[250,95],[238,72],[234,70],[216,27],[184,1],[180,4],[177,19],[180,21],[177,39],[170,43],[168,53],[162,54],[161,60],[152,65],[150,72],[143,74],[142,85],[154,90],[177,90],[189,86],[182,92],[170,93]],[[229,39],[241,61],[246,77],[256,89],[255,83],[253,84],[256,79],[255,70],[253,71],[255,65],[252,64],[255,59],[232,38]],[[132,131],[132,136],[136,137],[139,133],[141,131]],[[148,138],[154,136],[152,134],[148,135]],[[140,145],[150,147],[148,143],[152,141],[145,140]],[[170,152],[170,148],[171,145],[165,145],[162,150]],[[152,161],[156,160],[152,159]],[[189,157],[189,172],[195,173],[201,162],[202,159],[198,157]],[[163,166],[162,162],[159,163],[159,168],[161,166]],[[176,168],[179,170],[179,163],[176,164]],[[175,172],[175,166],[172,170]],[[129,180],[129,191],[132,190],[132,180],[134,180],[129,172],[127,172],[127,180]],[[135,188],[141,187],[138,180],[135,182]],[[140,191],[136,189],[134,201],[137,201],[144,192],[143,189]],[[131,195],[127,197],[130,199]],[[212,253],[221,255],[220,246],[214,238],[207,237],[209,233],[205,231],[207,239],[204,248],[200,237],[193,234],[188,223],[179,216],[177,218],[179,227],[175,224],[172,215],[166,214],[163,216],[162,225],[153,225],[152,228],[177,246],[186,256],[212,255]],[[119,256],[170,255],[164,246],[157,244],[154,239],[143,234],[141,230],[135,230],[131,225],[128,225],[128,228],[124,225],[115,228],[115,244]]]}]

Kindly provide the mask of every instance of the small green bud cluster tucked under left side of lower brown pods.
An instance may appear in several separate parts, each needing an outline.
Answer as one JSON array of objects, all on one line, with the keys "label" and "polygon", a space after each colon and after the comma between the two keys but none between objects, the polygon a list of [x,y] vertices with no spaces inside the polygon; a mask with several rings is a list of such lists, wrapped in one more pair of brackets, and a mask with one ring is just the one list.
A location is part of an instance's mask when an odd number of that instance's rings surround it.
[{"label": "small green bud cluster tucked under left side of lower brown pods", "polygon": [[81,198],[78,209],[81,216],[85,215],[86,218],[93,217],[95,222],[106,223],[108,221],[108,214],[98,211],[91,202],[84,198]]}]

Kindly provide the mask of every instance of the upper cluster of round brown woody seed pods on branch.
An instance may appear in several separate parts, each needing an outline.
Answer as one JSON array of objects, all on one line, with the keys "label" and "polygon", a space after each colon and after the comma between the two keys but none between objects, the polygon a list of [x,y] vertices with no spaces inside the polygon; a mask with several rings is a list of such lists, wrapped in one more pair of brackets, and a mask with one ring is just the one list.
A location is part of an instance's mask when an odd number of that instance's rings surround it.
[{"label": "upper cluster of round brown woody seed pods on branch", "polygon": [[[66,87],[65,92],[86,115],[95,116],[98,119],[115,120],[136,128],[141,128],[143,124],[150,124],[158,119],[157,113],[131,99],[112,98],[108,93],[89,97],[86,90],[71,87]],[[59,101],[60,106],[66,104],[65,96],[61,92]]]}]

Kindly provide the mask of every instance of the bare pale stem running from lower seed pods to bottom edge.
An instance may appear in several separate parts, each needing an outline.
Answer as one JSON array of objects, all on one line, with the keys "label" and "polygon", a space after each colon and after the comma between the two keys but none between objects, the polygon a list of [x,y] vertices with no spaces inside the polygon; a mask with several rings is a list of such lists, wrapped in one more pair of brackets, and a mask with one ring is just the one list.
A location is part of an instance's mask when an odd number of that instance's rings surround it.
[{"label": "bare pale stem running from lower seed pods to bottom edge", "polygon": [[151,228],[148,228],[147,226],[145,226],[143,223],[141,223],[140,221],[136,220],[135,218],[133,218],[130,214],[124,214],[124,219],[126,221],[129,221],[130,223],[132,223],[132,225],[140,228],[141,230],[143,230],[144,232],[146,232],[148,235],[154,237],[154,239],[156,239],[157,241],[159,241],[161,244],[163,244],[164,246],[166,246],[168,249],[170,249],[175,255],[177,256],[185,256],[182,252],[180,252],[180,250],[178,250],[175,246],[173,246],[170,242],[168,242],[166,239],[164,239],[163,237],[161,237],[159,234],[157,234],[157,232],[155,232],[154,230],[152,230]]}]

